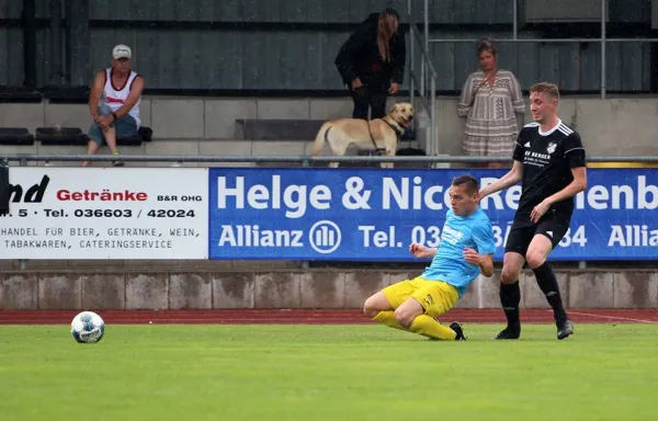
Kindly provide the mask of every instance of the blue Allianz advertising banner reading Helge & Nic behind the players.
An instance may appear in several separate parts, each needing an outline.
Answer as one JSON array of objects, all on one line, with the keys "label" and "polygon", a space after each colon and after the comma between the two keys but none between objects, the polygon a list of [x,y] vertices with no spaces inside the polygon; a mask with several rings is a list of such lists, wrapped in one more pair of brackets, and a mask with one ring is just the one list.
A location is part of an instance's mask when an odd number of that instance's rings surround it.
[{"label": "blue Allianz advertising banner reading Helge & Nic behind the players", "polygon": [[[436,247],[460,169],[213,168],[209,259],[411,261]],[[506,170],[472,170],[480,185]],[[658,259],[658,169],[589,169],[551,260]],[[501,260],[520,185],[481,202]]]}]

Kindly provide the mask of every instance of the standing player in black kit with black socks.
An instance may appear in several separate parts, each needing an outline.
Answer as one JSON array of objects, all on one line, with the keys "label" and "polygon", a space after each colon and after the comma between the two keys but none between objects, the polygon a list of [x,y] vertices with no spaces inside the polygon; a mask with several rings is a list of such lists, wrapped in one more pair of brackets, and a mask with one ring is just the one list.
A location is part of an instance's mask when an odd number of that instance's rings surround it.
[{"label": "standing player in black kit with black socks", "polygon": [[479,193],[485,197],[522,181],[500,284],[500,304],[508,326],[496,339],[521,335],[519,273],[524,261],[553,307],[557,339],[574,333],[557,280],[546,259],[569,229],[574,196],[587,187],[587,169],[580,135],[558,117],[558,102],[559,91],[555,84],[537,83],[530,89],[530,109],[535,122],[526,124],[519,133],[511,171]]}]

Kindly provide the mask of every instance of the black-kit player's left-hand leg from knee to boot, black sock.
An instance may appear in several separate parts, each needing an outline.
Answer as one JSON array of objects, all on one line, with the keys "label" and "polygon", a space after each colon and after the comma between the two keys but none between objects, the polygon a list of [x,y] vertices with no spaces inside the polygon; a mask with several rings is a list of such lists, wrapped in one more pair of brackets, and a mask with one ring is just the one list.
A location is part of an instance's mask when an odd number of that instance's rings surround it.
[{"label": "black-kit player's left-hand leg from knee to boot, black sock", "polygon": [[519,317],[521,288],[519,287],[519,273],[523,266],[523,255],[519,253],[504,253],[499,295],[500,305],[504,311],[508,325],[495,339],[519,339],[521,335],[521,319]]}]

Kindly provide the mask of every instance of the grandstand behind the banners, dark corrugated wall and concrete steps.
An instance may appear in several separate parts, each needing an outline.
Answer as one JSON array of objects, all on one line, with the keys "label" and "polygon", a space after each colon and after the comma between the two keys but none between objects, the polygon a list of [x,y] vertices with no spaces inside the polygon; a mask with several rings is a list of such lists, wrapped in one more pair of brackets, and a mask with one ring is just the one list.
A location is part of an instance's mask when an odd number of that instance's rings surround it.
[{"label": "grandstand behind the banners, dark corrugated wall and concrete steps", "polygon": [[[205,9],[195,5],[189,13],[179,13],[175,2],[169,0],[159,0],[152,8],[134,5],[137,9],[68,0],[55,2],[63,7],[61,16],[56,16],[48,1],[38,0],[32,2],[34,20],[25,20],[26,13],[16,2],[0,11],[0,33],[10,46],[0,59],[11,64],[0,66],[0,87],[4,87],[0,88],[0,151],[82,153],[90,125],[86,102],[91,75],[109,64],[112,45],[126,43],[136,53],[135,69],[147,80],[143,125],[154,134],[151,141],[120,140],[122,153],[306,155],[322,121],[351,114],[352,103],[340,83],[333,58],[354,25],[367,13],[387,5],[406,14],[411,4],[412,13],[402,19],[402,31],[409,34],[409,20],[424,31],[423,1],[337,2],[334,7],[320,2],[318,8],[300,8],[297,2],[282,0],[266,10],[253,1],[240,8],[231,2],[205,4]],[[609,0],[608,36],[651,36],[656,14],[651,12],[658,10],[654,3]],[[599,1],[582,7],[575,0],[560,0],[558,9],[570,10],[570,14],[560,14],[534,0],[429,4],[429,32],[423,35],[432,39],[485,35],[502,39],[510,38],[514,29],[519,38],[600,35]],[[168,12],[158,14],[156,10]],[[53,42],[57,36],[64,41],[61,50]],[[417,76],[422,64],[418,52],[424,39],[416,41],[416,54],[409,54],[411,41],[407,35],[405,83],[400,94],[389,102],[409,99],[411,64]],[[474,48],[458,42],[428,44],[438,73],[434,140],[440,155],[461,153],[464,121],[455,115],[455,98],[467,73],[477,66]],[[658,80],[651,76],[657,68],[651,44],[608,45],[608,91],[635,94],[633,100],[608,102],[583,98],[597,93],[601,83],[602,57],[597,43],[501,43],[499,48],[501,65],[519,75],[524,90],[546,79],[557,82],[566,94],[579,95],[564,101],[563,114],[569,124],[603,136],[592,145],[594,155],[655,148],[653,141],[645,140],[645,132],[653,133],[650,127],[633,127],[638,132],[633,136],[636,144],[624,148],[612,137],[605,138],[610,130],[597,128],[601,113],[612,109],[617,118],[628,122],[637,113],[646,113],[645,105],[637,105],[637,101],[645,101],[637,94],[653,92]],[[46,59],[35,66],[31,56]],[[418,83],[416,90],[418,124],[400,147],[427,150],[429,120]],[[646,101],[643,103],[653,100]],[[527,120],[526,114],[520,123]]]}]

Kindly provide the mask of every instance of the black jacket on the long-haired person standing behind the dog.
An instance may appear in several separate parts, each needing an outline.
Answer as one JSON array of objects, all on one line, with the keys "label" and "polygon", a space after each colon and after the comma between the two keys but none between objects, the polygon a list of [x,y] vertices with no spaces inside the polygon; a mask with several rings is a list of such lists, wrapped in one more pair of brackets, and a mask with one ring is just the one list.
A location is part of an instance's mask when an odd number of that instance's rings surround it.
[{"label": "black jacket on the long-haired person standing behind the dog", "polygon": [[372,13],[344,42],[336,57],[336,66],[344,83],[360,78],[362,82],[373,81],[388,89],[390,82],[402,84],[406,62],[405,35],[398,30],[389,42],[390,61],[385,62],[377,46],[377,20],[379,13]]}]

